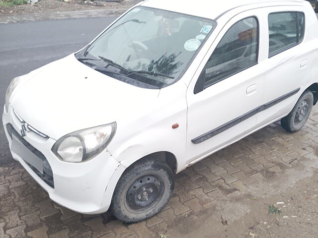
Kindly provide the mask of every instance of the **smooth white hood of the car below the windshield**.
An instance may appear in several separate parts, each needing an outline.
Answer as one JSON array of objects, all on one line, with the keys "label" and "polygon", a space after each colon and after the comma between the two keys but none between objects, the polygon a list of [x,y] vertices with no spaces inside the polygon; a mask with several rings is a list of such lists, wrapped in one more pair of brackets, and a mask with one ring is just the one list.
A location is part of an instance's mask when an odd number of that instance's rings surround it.
[{"label": "smooth white hood of the car below the windshield", "polygon": [[59,139],[80,129],[140,116],[158,95],[159,89],[121,82],[71,55],[22,77],[11,105],[32,127]]}]

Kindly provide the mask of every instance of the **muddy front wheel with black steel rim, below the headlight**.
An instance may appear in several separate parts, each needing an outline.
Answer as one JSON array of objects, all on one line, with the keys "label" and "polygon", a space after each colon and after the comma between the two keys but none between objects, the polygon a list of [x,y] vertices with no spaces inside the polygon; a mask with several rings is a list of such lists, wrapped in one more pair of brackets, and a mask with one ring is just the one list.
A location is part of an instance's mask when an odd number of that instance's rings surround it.
[{"label": "muddy front wheel with black steel rim, below the headlight", "polygon": [[173,188],[174,174],[166,163],[154,159],[136,163],[118,181],[110,210],[125,223],[143,221],[164,208]]}]

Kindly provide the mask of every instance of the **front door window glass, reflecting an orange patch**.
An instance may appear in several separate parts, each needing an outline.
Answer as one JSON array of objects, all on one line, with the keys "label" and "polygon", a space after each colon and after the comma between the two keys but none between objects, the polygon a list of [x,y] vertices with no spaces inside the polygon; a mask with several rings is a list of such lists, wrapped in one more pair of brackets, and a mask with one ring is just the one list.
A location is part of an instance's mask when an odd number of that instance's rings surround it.
[{"label": "front door window glass, reflecting an orange patch", "polygon": [[234,24],[206,64],[204,88],[257,63],[258,22],[255,17]]}]

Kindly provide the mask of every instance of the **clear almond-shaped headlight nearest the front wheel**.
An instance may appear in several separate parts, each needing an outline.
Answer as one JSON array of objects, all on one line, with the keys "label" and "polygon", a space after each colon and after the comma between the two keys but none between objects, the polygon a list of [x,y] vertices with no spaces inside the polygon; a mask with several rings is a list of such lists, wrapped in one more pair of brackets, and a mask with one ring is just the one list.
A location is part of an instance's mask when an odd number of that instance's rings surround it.
[{"label": "clear almond-shaped headlight nearest the front wheel", "polygon": [[83,162],[102,152],[115,131],[116,122],[78,130],[58,139],[52,147],[52,152],[66,162]]}]

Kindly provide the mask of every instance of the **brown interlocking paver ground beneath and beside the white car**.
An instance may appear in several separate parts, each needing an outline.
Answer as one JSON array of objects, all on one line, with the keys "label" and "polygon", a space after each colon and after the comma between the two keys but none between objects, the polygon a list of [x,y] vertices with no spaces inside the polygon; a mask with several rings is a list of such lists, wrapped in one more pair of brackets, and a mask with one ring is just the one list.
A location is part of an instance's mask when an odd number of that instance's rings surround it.
[{"label": "brown interlocking paver ground beneath and beside the white car", "polygon": [[[82,215],[55,204],[12,160],[12,166],[0,167],[0,237],[158,238],[159,234],[167,234],[171,238],[200,238],[252,237],[250,234],[254,233],[258,237],[284,237],[280,236],[280,227],[292,231],[295,226],[289,224],[294,224],[296,217],[291,220],[287,215],[274,216],[268,222],[260,219],[269,217],[266,204],[276,202],[278,197],[286,201],[285,210],[290,207],[295,214],[300,208],[293,201],[302,199],[303,194],[306,201],[317,204],[317,148],[315,107],[300,132],[290,134],[279,122],[273,123],[181,172],[176,176],[174,195],[167,207],[148,221],[132,225],[117,221],[109,213]],[[297,189],[307,190],[296,193],[294,198],[285,197],[286,191]],[[258,203],[260,208],[256,209],[254,203],[258,201],[263,203]],[[233,228],[236,232],[221,224],[220,214],[228,224],[237,226]],[[311,217],[313,214],[317,215],[316,205],[298,215],[302,225],[297,229],[304,230],[304,237],[318,233],[313,228],[305,232],[318,224],[317,216],[316,220]],[[304,219],[306,223],[302,223]],[[295,234],[288,236],[299,237]]]}]

